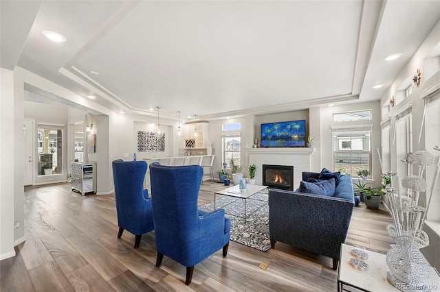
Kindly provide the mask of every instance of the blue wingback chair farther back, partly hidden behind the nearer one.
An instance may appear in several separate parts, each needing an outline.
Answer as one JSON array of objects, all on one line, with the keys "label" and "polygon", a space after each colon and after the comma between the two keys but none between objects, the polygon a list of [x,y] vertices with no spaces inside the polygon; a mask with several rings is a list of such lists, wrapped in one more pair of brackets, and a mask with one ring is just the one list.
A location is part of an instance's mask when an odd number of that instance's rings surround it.
[{"label": "blue wingback chair farther back, partly hidden behind the nearer one", "polygon": [[118,213],[118,239],[128,230],[135,234],[135,248],[142,234],[154,230],[153,209],[148,190],[144,190],[145,161],[112,162],[115,183],[116,212]]}]

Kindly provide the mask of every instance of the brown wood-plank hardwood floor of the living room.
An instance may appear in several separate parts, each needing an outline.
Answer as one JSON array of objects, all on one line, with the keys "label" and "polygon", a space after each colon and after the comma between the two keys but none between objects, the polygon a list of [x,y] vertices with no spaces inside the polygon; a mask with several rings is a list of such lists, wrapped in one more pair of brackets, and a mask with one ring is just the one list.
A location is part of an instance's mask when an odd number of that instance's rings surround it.
[{"label": "brown wood-plank hardwood floor of the living room", "polygon": [[[223,184],[203,182],[199,205],[214,199]],[[382,209],[355,208],[347,244],[386,253],[393,239],[391,217]],[[0,291],[336,291],[332,260],[290,245],[260,252],[230,241],[195,266],[192,283],[186,268],[164,257],[155,267],[154,232],[117,239],[114,195],[85,195],[70,184],[25,187],[26,241],[17,255],[0,262]],[[269,263],[267,269],[259,268]]]}]

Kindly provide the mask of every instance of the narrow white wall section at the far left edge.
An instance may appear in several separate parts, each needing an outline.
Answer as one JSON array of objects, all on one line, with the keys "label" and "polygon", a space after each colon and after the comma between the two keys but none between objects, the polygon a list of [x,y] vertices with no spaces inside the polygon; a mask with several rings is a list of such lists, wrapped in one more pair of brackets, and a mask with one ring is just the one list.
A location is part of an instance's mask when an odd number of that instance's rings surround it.
[{"label": "narrow white wall section at the far left edge", "polygon": [[[14,251],[14,72],[1,68],[0,77],[0,260]],[[23,206],[22,206],[23,207]]]}]

